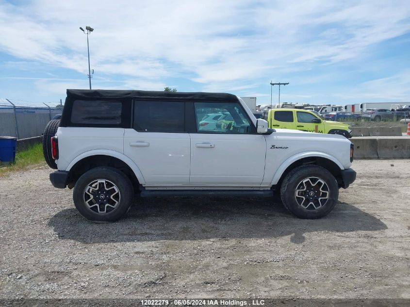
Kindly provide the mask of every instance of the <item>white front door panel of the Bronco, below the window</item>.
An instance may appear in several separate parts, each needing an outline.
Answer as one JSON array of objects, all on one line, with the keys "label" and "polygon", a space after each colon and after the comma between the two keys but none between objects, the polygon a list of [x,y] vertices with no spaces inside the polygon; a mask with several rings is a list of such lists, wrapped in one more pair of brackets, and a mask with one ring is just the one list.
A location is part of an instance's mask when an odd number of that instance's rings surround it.
[{"label": "white front door panel of the Bronco, below the window", "polygon": [[263,135],[191,133],[190,137],[190,184],[261,185],[266,151]]}]

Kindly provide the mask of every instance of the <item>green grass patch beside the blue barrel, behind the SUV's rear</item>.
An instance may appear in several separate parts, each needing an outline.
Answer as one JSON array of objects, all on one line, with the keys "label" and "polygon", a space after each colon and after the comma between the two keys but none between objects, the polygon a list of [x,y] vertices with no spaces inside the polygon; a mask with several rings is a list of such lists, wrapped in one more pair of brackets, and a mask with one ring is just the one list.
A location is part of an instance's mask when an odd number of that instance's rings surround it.
[{"label": "green grass patch beside the blue barrel, behind the SUV's rear", "polygon": [[14,171],[25,170],[40,163],[46,163],[43,156],[43,145],[36,144],[27,150],[17,152],[16,161],[13,164],[2,165],[0,167],[0,176]]}]

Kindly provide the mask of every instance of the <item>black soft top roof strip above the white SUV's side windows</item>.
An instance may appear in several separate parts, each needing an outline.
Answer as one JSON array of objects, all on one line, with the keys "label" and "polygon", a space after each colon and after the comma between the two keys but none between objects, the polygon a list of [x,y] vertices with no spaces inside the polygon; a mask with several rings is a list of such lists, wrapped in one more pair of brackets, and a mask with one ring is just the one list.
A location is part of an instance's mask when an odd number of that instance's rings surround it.
[{"label": "black soft top roof strip above the white SUV's side windows", "polygon": [[235,95],[227,93],[203,92],[164,92],[137,90],[67,90],[67,98],[140,98],[140,99],[182,99],[200,101],[230,101],[236,102]]}]

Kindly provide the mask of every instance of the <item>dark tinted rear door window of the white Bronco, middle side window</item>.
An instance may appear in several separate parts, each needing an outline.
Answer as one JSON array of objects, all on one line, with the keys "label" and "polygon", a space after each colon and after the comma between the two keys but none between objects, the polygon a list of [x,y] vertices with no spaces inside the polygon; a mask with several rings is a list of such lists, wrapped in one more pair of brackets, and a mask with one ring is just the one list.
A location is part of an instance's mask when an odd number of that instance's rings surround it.
[{"label": "dark tinted rear door window of the white Bronco, middle side window", "polygon": [[184,132],[185,103],[135,101],[133,128],[145,132]]}]

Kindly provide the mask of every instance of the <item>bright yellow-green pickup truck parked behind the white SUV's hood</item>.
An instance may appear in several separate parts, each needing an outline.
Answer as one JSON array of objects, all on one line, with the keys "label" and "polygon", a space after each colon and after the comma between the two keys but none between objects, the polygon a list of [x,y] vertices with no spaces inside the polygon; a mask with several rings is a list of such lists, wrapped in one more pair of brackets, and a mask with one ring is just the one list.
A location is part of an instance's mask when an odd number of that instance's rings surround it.
[{"label": "bright yellow-green pickup truck parked behind the white SUV's hood", "polygon": [[270,109],[263,113],[269,128],[296,129],[317,133],[340,134],[351,138],[348,124],[323,120],[316,114],[300,109]]}]

